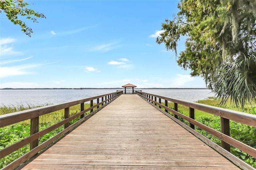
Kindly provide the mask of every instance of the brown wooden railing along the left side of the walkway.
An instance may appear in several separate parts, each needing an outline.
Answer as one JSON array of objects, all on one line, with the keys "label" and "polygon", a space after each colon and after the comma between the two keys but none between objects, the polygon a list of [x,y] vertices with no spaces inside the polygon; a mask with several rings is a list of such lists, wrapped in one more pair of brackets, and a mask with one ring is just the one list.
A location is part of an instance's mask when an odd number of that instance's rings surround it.
[{"label": "brown wooden railing along the left side of the walkway", "polygon": [[[26,162],[26,160],[30,159],[32,156],[36,155],[38,152],[46,148],[46,146],[52,144],[55,140],[66,134],[68,131],[72,130],[82,122],[89,119],[92,115],[97,113],[100,109],[108,105],[111,101],[122,95],[122,91],[117,91],[115,93],[108,93],[105,95],[100,95],[96,97],[90,97],[86,99],[80,99],[76,101],[71,101],[62,104],[49,105],[44,107],[38,107],[35,109],[29,109],[25,111],[19,111],[16,113],[10,113],[6,115],[0,115],[0,128],[6,127],[8,125],[13,125],[15,123],[19,123],[21,121],[26,121],[30,119],[30,136],[10,145],[6,148],[0,150],[0,158],[11,154],[12,152],[30,144],[30,151],[20,158],[14,160],[12,163],[5,166],[3,169],[14,169],[20,164]],[[94,104],[94,100],[97,101],[96,105]],[[101,100],[101,102],[100,102]],[[84,103],[90,102],[90,108],[84,109]],[[69,110],[71,106],[80,105],[80,112],[70,116]],[[48,113],[52,113],[54,111],[59,111],[64,109],[64,120],[52,125],[44,130],[39,131],[39,117],[42,115],[46,115]],[[90,114],[85,116],[85,113],[90,111]],[[76,121],[74,124],[70,125],[70,121],[80,117],[79,121]],[[38,139],[45,134],[55,130],[56,128],[64,125],[64,130],[53,136],[52,138],[46,140],[42,144],[38,145]]]}]

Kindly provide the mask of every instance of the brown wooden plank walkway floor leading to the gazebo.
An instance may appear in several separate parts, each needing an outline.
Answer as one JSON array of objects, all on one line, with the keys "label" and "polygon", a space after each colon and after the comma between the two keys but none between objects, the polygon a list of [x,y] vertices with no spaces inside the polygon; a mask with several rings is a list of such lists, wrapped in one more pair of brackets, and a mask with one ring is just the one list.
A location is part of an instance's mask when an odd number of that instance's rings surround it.
[{"label": "brown wooden plank walkway floor leading to the gazebo", "polygon": [[121,95],[23,169],[239,168],[138,95]]}]

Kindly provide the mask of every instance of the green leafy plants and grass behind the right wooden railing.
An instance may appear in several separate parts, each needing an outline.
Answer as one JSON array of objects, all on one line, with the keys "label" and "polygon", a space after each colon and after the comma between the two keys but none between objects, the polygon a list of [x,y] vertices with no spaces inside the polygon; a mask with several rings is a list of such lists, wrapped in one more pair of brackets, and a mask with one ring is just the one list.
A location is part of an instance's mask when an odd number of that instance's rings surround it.
[{"label": "green leafy plants and grass behind the right wooden railing", "polygon": [[[237,107],[234,103],[232,103],[232,100],[228,99],[229,105],[222,105],[221,100],[215,99],[214,97],[209,97],[205,100],[197,101],[197,103],[202,103],[206,105],[211,105],[215,107],[222,107],[225,109],[231,109],[235,111],[241,111],[245,113],[250,113],[253,115],[256,115],[256,104],[251,105],[247,104],[244,107]],[[164,105],[164,103],[162,103]],[[174,109],[173,103],[168,103],[168,107],[171,109]],[[183,105],[178,105],[178,112],[182,113],[183,115],[189,116],[189,108]],[[174,116],[174,114],[171,113],[171,115]],[[180,121],[185,123],[186,125],[189,125],[188,121],[178,117]],[[207,125],[208,127],[211,127],[215,130],[220,131],[220,117],[214,116],[212,114],[202,112],[195,110],[195,120]],[[220,145],[221,140],[219,138],[216,138],[212,134],[202,130],[199,127],[195,127],[195,130],[197,132],[200,132],[202,135],[204,135],[206,138],[212,140],[216,144]],[[244,125],[242,123],[237,123],[235,121],[230,121],[230,136],[240,142],[243,142],[244,144],[247,144],[248,146],[251,146],[253,148],[256,148],[256,128],[248,125]],[[237,156],[238,158],[244,160],[254,168],[256,168],[256,158],[253,158],[252,156],[248,155],[245,152],[242,152],[238,148],[231,147],[231,153]]]}]

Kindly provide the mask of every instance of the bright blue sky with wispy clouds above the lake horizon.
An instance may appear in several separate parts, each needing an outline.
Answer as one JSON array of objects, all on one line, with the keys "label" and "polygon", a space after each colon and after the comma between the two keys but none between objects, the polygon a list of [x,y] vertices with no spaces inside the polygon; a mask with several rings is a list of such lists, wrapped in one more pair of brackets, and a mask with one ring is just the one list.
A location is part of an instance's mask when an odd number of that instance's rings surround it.
[{"label": "bright blue sky with wispy clouds above the lake horizon", "polygon": [[27,2],[46,19],[24,20],[30,38],[1,14],[0,88],[206,87],[156,43],[178,1]]}]

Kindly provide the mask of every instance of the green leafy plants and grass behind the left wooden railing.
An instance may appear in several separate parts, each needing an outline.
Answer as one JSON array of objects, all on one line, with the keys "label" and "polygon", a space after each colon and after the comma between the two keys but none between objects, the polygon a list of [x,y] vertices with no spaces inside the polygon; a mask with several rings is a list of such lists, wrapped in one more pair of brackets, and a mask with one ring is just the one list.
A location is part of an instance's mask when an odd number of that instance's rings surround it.
[{"label": "green leafy plants and grass behind the left wooden railing", "polygon": [[[49,105],[46,103],[45,105]],[[17,111],[23,111],[26,109],[32,109],[35,107],[41,107],[41,106],[34,106],[27,103],[27,106],[25,106],[23,103],[17,103],[16,105],[1,105],[0,106],[0,115],[4,115],[7,113],[13,113]],[[90,104],[85,103],[84,109],[87,109],[90,107]],[[75,105],[70,107],[70,116],[79,113],[80,112],[80,105]],[[64,109],[55,111],[53,113],[49,113],[47,115],[42,115],[39,117],[39,131],[50,127],[60,121],[64,120]],[[70,125],[78,121],[79,119],[74,119],[70,122]],[[39,138],[38,143],[41,144],[45,142],[46,140],[50,139],[52,136],[58,134],[64,130],[64,125],[62,125],[59,128],[56,128],[55,130],[49,132],[48,134],[45,134],[41,138]],[[10,146],[11,144],[14,144],[15,142],[18,142],[26,137],[30,136],[30,120],[22,121],[20,123],[16,123],[7,127],[0,128],[0,150]],[[30,150],[29,144],[20,148],[19,150],[16,150],[9,154],[8,156],[5,156],[0,160],[0,168],[3,168],[10,162],[14,161],[15,159],[19,158],[23,154],[27,153]]]}]

